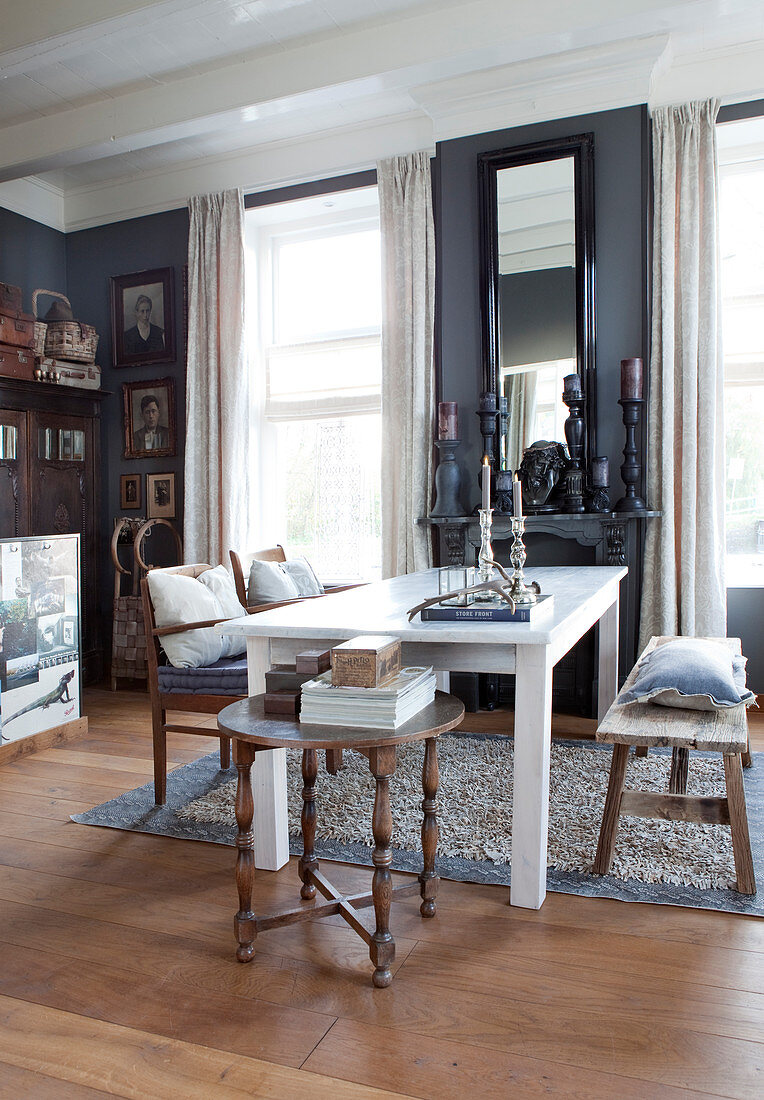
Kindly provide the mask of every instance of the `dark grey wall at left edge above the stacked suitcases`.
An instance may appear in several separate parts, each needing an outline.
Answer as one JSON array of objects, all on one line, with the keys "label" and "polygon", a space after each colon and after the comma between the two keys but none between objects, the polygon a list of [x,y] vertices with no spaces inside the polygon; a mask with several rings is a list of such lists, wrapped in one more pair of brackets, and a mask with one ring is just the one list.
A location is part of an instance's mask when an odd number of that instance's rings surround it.
[{"label": "dark grey wall at left edge above the stacked suitcases", "polygon": [[[25,314],[36,289],[66,294],[66,237],[0,207],[0,282],[20,286]],[[51,299],[42,299],[49,305]]]}]

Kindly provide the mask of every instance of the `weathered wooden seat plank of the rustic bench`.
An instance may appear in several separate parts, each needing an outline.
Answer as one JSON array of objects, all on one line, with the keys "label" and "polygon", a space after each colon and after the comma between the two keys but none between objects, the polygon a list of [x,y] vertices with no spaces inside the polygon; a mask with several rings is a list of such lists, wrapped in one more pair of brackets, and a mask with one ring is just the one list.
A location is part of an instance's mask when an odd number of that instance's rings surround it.
[{"label": "weathered wooden seat plank of the rustic bench", "polygon": [[[642,657],[673,640],[672,636],[651,638]],[[740,638],[708,640],[723,641],[731,653],[741,653]],[[629,673],[621,693],[636,679],[639,663]],[[620,694],[597,728],[598,741],[713,752],[743,752],[748,747],[748,717],[743,703],[719,711],[685,711],[657,703],[619,703],[619,698]]]}]

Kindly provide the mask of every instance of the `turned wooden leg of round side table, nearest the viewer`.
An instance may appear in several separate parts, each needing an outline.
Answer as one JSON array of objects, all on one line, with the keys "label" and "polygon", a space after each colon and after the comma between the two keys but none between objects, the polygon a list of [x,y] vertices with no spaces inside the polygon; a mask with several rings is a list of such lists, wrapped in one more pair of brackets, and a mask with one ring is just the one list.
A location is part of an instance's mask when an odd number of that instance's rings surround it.
[{"label": "turned wooden leg of round side table, nearest the viewer", "polygon": [[372,981],[377,989],[384,989],[392,981],[390,965],[396,957],[396,944],[390,935],[390,903],[392,901],[392,877],[390,865],[390,838],[392,836],[392,813],[390,812],[390,777],[396,770],[395,746],[369,749],[368,766],[377,790],[374,798],[372,833],[374,834],[374,878],[372,897],[377,926],[369,943],[369,958],[374,963]]}]

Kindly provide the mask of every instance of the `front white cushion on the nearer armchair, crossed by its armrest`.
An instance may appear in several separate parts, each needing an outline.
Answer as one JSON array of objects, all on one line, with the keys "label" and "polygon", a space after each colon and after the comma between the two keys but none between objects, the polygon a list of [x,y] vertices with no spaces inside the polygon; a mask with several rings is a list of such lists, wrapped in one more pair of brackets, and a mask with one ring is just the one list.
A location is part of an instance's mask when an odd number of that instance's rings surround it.
[{"label": "front white cushion on the nearer armchair, crossed by its armrest", "polygon": [[[206,623],[208,619],[224,617],[214,592],[192,576],[150,570],[146,580],[158,627]],[[224,651],[223,638],[215,632],[214,627],[166,635],[159,639],[159,645],[176,669],[199,669],[214,664]]]}]

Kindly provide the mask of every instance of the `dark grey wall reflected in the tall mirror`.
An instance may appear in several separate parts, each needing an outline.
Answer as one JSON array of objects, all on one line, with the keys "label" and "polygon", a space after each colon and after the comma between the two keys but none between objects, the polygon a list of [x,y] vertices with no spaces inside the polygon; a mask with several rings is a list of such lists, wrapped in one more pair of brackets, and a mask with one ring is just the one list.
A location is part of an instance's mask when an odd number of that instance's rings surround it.
[{"label": "dark grey wall reflected in the tall mirror", "polygon": [[499,277],[501,363],[545,363],[576,355],[573,267]]}]

